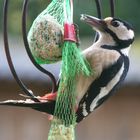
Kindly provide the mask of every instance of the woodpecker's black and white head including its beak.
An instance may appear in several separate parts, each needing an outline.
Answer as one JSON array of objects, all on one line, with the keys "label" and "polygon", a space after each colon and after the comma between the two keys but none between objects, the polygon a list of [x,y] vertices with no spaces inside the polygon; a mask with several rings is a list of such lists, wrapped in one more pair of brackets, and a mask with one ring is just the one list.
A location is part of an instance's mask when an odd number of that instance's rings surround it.
[{"label": "woodpecker's black and white head including its beak", "polygon": [[[113,17],[98,19],[83,14],[81,15],[81,20],[92,26],[92,28],[99,33],[99,38],[104,38],[104,43],[114,44],[119,47],[118,49],[125,49],[134,41],[134,31],[132,26],[121,19]],[[107,37],[110,38],[110,40],[107,39]]]}]

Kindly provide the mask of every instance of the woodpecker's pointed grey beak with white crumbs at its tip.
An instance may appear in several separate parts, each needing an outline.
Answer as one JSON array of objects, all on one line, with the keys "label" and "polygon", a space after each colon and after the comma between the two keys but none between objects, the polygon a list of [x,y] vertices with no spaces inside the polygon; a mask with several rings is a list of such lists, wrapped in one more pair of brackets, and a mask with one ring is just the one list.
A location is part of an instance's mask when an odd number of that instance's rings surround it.
[{"label": "woodpecker's pointed grey beak with white crumbs at its tip", "polygon": [[104,20],[86,14],[81,15],[81,21],[89,24],[90,26],[95,28],[95,30],[99,31],[104,31],[106,27]]}]

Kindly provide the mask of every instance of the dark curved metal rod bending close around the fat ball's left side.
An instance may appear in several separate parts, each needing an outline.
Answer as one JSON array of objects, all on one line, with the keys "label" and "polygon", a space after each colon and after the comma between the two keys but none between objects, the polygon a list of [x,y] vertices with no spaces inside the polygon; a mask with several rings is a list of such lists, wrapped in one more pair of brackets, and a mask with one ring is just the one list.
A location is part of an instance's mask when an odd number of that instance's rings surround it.
[{"label": "dark curved metal rod bending close around the fat ball's left side", "polygon": [[44,69],[43,67],[41,67],[34,59],[34,57],[32,56],[32,53],[30,51],[30,48],[29,48],[29,44],[28,44],[28,40],[27,40],[27,33],[26,33],[26,15],[27,15],[27,8],[28,8],[28,3],[29,3],[29,0],[24,0],[24,3],[23,3],[23,11],[22,11],[22,34],[23,34],[23,41],[24,41],[24,45],[25,45],[25,48],[26,48],[26,52],[30,58],[30,60],[32,61],[32,63],[34,64],[34,66],[40,70],[41,72],[45,73],[46,75],[48,75],[52,81],[52,92],[56,92],[57,90],[57,82],[56,82],[56,79],[55,79],[55,76],[47,71],[46,69]]}]

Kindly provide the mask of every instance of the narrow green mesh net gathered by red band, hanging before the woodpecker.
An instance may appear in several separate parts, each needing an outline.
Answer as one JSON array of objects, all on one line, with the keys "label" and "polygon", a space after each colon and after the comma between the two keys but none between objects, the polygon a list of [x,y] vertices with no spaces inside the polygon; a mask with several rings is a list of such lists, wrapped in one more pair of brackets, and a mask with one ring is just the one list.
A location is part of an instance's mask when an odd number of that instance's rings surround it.
[{"label": "narrow green mesh net gathered by red band, hanging before the woodpecker", "polygon": [[[72,24],[72,0],[64,1],[65,22]],[[61,80],[48,140],[75,140],[76,95],[78,94],[76,78],[80,74],[89,76],[90,66],[81,55],[76,43],[66,40],[63,44]]]}]

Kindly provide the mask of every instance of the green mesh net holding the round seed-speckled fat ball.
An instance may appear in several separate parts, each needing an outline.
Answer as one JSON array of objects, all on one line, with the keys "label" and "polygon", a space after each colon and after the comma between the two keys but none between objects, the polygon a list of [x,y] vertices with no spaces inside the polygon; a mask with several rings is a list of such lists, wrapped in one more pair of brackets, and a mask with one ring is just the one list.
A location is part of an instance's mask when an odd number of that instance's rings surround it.
[{"label": "green mesh net holding the round seed-speckled fat ball", "polygon": [[28,33],[30,50],[39,64],[54,63],[62,58],[64,0],[53,0],[37,16]]}]

